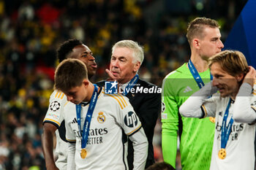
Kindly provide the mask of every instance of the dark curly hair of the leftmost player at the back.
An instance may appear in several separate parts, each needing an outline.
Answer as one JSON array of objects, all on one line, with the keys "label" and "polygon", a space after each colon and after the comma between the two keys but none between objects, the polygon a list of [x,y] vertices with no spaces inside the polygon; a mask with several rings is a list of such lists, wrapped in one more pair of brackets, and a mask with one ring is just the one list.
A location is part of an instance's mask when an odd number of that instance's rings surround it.
[{"label": "dark curly hair of the leftmost player at the back", "polygon": [[67,59],[67,55],[72,52],[73,48],[78,46],[78,45],[83,45],[83,42],[81,42],[78,39],[69,39],[66,42],[63,42],[61,46],[57,49],[57,58],[59,60],[59,63],[61,61],[64,61],[64,59]]}]

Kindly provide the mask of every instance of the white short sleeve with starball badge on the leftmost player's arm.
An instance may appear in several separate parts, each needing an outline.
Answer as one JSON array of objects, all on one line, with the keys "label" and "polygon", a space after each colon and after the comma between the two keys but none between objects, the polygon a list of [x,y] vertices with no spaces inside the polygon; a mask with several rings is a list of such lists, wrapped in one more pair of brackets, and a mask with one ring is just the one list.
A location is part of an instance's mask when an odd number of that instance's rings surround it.
[{"label": "white short sleeve with starball badge on the leftmost player's arm", "polygon": [[50,96],[49,103],[48,111],[46,112],[43,123],[52,123],[59,128],[63,121],[61,112],[63,112],[64,105],[67,103],[67,97],[61,91],[54,90]]}]

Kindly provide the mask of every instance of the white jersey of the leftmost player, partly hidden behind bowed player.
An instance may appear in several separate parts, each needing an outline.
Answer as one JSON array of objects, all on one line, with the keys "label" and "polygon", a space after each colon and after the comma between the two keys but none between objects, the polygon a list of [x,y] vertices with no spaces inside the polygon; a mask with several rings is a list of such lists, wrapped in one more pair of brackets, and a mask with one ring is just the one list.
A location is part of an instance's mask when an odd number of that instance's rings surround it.
[{"label": "white jersey of the leftmost player, partly hidden behind bowed player", "polygon": [[[52,123],[53,125],[56,125],[57,128],[59,128],[63,121],[63,109],[64,105],[67,104],[67,96],[65,96],[64,93],[59,90],[54,90],[50,96],[49,101],[50,104],[43,123]],[[61,139],[59,131],[56,131],[55,151],[58,155],[56,166],[59,169],[67,169],[67,142],[64,142]]]}]

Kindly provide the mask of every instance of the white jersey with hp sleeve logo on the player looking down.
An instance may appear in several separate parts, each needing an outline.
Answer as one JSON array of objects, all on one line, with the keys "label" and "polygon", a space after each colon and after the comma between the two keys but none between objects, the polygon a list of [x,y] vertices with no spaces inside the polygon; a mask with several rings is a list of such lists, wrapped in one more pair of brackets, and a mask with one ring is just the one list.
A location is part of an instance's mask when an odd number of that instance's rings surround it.
[{"label": "white jersey with hp sleeve logo on the player looking down", "polygon": [[[81,129],[88,108],[89,104],[82,106]],[[85,159],[80,157],[81,134],[78,130],[75,104],[69,102],[65,106],[64,119],[67,141],[76,142],[76,169],[128,169],[122,130],[127,136],[132,135],[139,131],[141,123],[127,97],[120,94],[105,94],[104,90],[101,90],[91,118]]]}]

